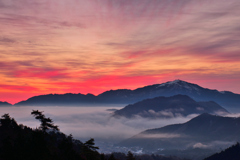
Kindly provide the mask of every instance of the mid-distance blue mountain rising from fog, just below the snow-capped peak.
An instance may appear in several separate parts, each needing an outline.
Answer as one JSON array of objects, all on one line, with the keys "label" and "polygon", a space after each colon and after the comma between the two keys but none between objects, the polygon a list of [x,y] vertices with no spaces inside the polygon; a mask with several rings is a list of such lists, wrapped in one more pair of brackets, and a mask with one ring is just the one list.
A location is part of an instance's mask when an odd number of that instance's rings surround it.
[{"label": "mid-distance blue mountain rising from fog, just below the snow-capped peak", "polygon": [[115,111],[113,116],[124,116],[127,118],[134,116],[172,118],[201,113],[227,114],[228,111],[212,101],[196,102],[186,95],[175,95],[172,97],[146,99],[127,105],[123,109]]}]

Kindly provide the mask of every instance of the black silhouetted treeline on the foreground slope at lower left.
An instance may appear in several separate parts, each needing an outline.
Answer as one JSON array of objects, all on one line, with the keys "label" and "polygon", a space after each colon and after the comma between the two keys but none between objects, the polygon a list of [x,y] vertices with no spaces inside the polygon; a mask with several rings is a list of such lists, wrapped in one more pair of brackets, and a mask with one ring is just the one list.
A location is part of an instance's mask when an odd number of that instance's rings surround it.
[{"label": "black silhouetted treeline on the foreground slope at lower left", "polygon": [[58,126],[42,112],[36,110],[31,114],[41,122],[36,129],[18,124],[9,114],[0,118],[0,160],[180,160],[131,152],[100,154],[94,139],[83,143],[71,134],[59,132]]}]

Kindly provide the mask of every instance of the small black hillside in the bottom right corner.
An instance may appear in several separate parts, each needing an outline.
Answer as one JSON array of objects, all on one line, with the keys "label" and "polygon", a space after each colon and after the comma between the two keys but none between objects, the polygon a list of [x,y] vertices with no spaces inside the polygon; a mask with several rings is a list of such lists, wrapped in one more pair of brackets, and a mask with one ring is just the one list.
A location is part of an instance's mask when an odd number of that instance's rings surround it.
[{"label": "small black hillside in the bottom right corner", "polygon": [[204,160],[239,160],[240,159],[240,145],[237,143],[226,150],[216,153]]}]

